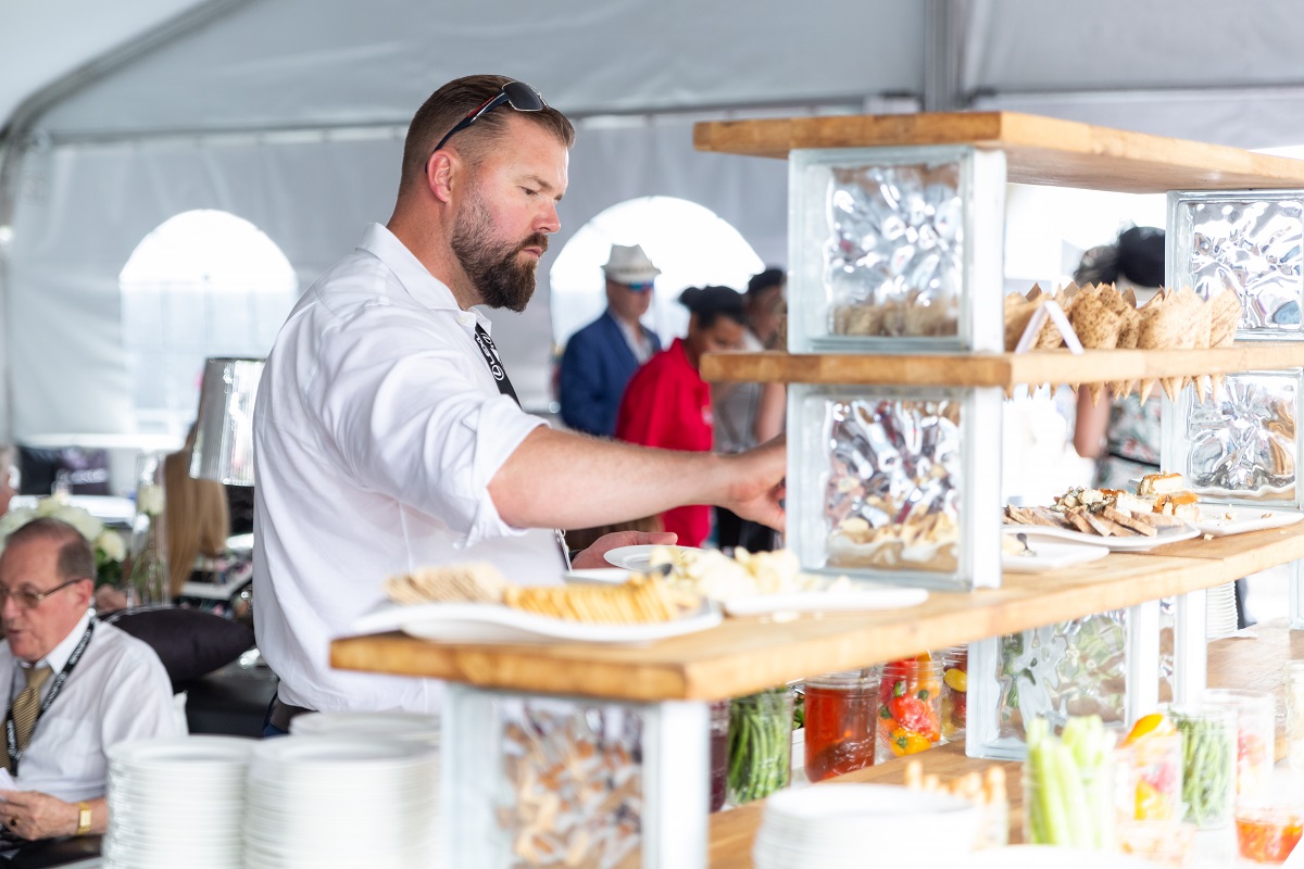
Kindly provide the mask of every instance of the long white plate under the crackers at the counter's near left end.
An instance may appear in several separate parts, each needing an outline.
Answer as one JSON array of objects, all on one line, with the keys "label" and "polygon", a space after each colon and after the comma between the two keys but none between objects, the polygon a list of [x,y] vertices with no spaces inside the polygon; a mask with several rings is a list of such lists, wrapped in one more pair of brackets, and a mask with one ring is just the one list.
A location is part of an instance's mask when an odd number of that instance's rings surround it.
[{"label": "long white plate under the crackers at the counter's near left end", "polygon": [[357,633],[402,631],[436,642],[612,642],[643,644],[696,633],[721,621],[720,607],[702,610],[674,621],[649,624],[589,624],[549,619],[494,603],[385,603],[356,620]]}]

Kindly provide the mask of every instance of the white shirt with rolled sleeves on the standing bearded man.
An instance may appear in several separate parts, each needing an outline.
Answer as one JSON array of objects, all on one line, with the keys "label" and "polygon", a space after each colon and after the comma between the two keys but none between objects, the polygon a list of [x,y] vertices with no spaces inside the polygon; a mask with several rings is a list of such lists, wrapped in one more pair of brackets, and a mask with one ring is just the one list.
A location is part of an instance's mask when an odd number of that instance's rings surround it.
[{"label": "white shirt with rolled sleeves on the standing bearded man", "polygon": [[489,498],[546,423],[498,391],[477,323],[489,330],[372,224],[276,336],[254,408],[253,610],[284,702],[438,710],[437,681],[330,667],[330,641],[385,601],[389,576],[484,560],[516,582],[561,580],[553,533],[509,526]]}]

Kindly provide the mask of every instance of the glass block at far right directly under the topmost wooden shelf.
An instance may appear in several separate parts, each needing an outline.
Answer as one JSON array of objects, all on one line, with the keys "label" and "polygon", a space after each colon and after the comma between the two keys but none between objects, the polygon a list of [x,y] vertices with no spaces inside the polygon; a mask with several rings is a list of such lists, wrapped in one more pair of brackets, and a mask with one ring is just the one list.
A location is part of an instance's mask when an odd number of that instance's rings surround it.
[{"label": "glass block at far right directly under the topmost wooden shelf", "polygon": [[1304,190],[1170,193],[1168,283],[1240,296],[1237,339],[1300,336]]}]

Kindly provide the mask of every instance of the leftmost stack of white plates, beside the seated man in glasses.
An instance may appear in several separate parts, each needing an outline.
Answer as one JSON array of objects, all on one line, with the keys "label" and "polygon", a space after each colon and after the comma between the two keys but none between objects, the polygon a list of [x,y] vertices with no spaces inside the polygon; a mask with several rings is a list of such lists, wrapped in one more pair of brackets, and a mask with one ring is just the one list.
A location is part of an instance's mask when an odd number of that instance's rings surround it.
[{"label": "leftmost stack of white plates, beside the seated man in glasses", "polygon": [[243,866],[245,775],[254,745],[233,736],[181,736],[108,749],[104,865]]}]

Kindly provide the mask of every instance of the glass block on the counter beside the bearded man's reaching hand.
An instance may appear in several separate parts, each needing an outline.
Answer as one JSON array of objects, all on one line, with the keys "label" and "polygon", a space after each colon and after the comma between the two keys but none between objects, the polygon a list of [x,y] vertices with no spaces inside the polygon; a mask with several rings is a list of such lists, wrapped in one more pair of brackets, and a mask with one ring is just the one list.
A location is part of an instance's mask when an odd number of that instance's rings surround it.
[{"label": "glass block on the counter beside the bearded man's reaching hand", "polygon": [[794,384],[789,526],[802,567],[999,585],[999,414],[996,390]]}]

